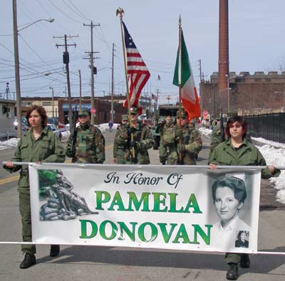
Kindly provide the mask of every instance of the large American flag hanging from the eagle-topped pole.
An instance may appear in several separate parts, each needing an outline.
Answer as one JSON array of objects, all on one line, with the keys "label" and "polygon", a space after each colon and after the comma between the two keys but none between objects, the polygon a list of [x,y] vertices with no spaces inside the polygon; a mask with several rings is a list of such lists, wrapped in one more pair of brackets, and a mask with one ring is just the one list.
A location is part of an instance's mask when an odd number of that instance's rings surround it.
[{"label": "large American flag hanging from the eagle-topped pole", "polygon": [[[122,21],[123,22],[123,21]],[[142,60],[140,52],[138,51],[133,38],[128,33],[128,29],[123,22],[125,33],[125,50],[127,53],[127,71],[128,71],[128,85],[130,106],[141,107],[139,103],[140,92],[150,78],[150,72],[147,70],[145,62]],[[125,107],[128,107],[128,100],[125,101]]]}]

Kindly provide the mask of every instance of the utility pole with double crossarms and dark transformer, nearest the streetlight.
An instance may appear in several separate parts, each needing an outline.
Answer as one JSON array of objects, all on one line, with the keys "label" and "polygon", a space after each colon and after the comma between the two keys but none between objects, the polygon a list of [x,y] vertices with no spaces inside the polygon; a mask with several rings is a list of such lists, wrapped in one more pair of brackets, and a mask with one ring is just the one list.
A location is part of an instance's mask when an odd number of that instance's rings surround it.
[{"label": "utility pole with double crossarms and dark transformer, nearest the streetlight", "polygon": [[76,43],[74,44],[68,44],[67,43],[67,38],[74,38],[74,37],[78,37],[77,36],[66,36],[66,34],[64,34],[64,36],[53,36],[53,38],[64,38],[64,45],[59,45],[56,44],[56,48],[64,46],[65,47],[65,51],[63,52],[63,63],[66,65],[66,80],[67,80],[67,89],[68,89],[68,121],[69,121],[69,129],[71,130],[73,128],[73,124],[72,124],[72,107],[71,107],[71,80],[69,77],[69,53],[68,53],[68,46],[74,46],[76,47]]}]

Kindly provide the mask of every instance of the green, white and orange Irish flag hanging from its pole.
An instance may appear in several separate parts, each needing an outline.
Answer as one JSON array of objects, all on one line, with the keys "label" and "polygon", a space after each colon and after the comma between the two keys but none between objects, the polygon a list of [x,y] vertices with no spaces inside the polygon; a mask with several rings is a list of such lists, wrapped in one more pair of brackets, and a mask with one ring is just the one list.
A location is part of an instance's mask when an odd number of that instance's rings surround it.
[{"label": "green, white and orange Irish flag hanging from its pole", "polygon": [[188,112],[189,120],[199,117],[201,115],[199,98],[182,30],[180,48],[178,48],[177,52],[173,84],[181,87],[181,101],[185,110]]}]

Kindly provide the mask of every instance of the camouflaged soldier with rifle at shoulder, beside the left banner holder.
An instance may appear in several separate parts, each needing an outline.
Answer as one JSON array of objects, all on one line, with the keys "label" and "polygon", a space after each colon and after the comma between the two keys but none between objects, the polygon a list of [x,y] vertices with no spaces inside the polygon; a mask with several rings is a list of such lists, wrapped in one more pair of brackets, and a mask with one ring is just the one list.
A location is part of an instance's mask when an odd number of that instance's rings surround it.
[{"label": "camouflaged soldier with rifle at shoulder, beside the left banner holder", "polygon": [[71,137],[66,147],[66,156],[72,157],[73,163],[103,164],[105,161],[105,139],[100,129],[90,124],[90,112],[78,112],[79,126],[76,128],[76,149],[73,154]]}]

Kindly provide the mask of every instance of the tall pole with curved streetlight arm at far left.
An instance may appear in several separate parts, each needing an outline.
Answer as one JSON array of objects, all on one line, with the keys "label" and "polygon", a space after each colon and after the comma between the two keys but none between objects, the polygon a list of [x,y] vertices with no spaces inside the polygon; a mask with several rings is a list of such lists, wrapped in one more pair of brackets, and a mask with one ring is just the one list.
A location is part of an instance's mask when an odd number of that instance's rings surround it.
[{"label": "tall pole with curved streetlight arm at far left", "polygon": [[28,26],[37,23],[38,21],[48,21],[52,23],[54,18],[49,19],[38,19],[33,23],[29,23],[24,28],[18,29],[17,24],[17,3],[13,0],[13,36],[14,36],[14,60],[15,60],[15,85],[16,85],[16,114],[18,120],[17,126],[17,137],[21,138],[22,135],[22,112],[21,112],[21,85],[20,85],[20,64],[19,64],[19,43],[18,43],[18,32],[28,28]]}]

